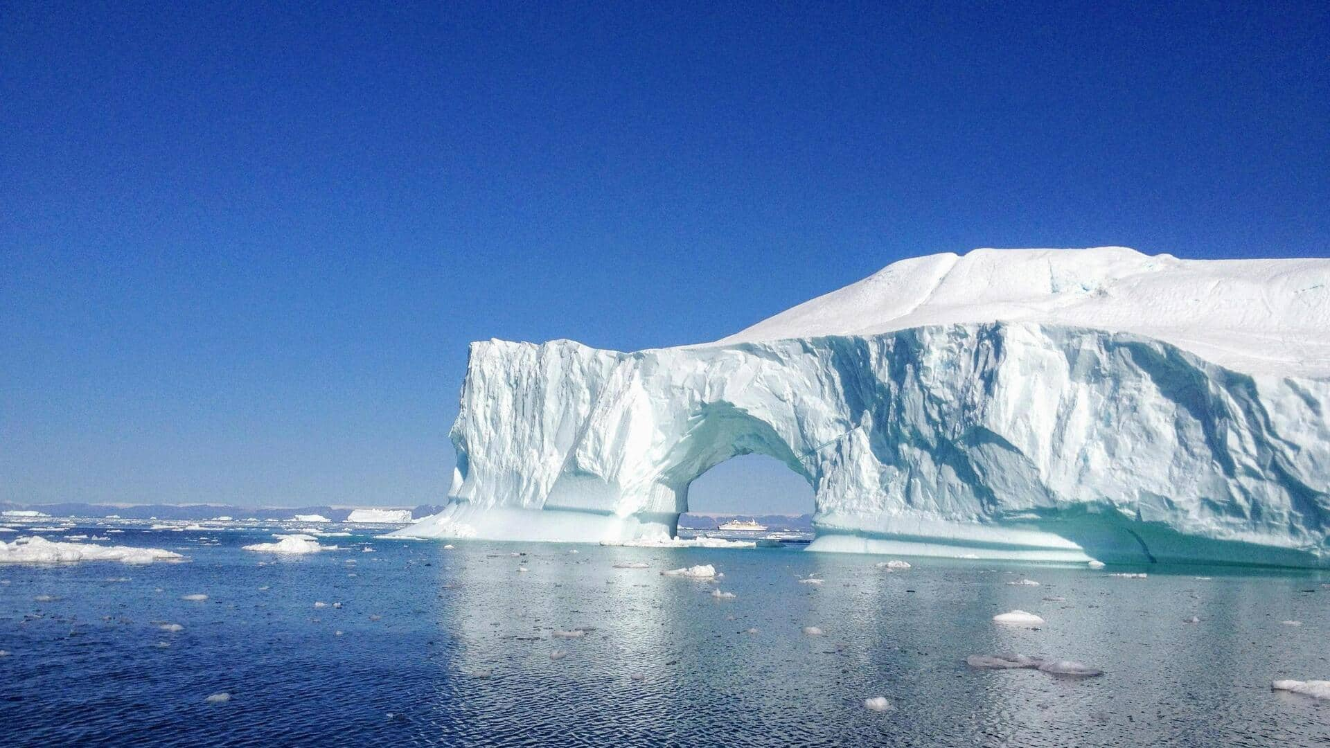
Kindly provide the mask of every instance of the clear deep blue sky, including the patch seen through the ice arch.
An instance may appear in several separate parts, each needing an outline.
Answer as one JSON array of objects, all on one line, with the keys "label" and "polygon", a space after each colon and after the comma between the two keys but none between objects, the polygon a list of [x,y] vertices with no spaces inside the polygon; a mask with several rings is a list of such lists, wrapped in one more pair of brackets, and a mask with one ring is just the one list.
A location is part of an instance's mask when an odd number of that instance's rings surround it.
[{"label": "clear deep blue sky, including the patch seen through the ice arch", "polygon": [[[440,502],[472,339],[714,339],[975,246],[1330,250],[1323,1],[427,5],[0,1],[0,499]],[[806,506],[718,470],[705,508]]]}]

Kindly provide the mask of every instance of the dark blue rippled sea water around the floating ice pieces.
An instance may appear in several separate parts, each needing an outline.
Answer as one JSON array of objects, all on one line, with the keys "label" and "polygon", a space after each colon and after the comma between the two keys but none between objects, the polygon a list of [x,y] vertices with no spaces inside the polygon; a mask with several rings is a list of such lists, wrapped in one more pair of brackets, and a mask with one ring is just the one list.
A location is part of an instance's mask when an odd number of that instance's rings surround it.
[{"label": "dark blue rippled sea water around the floating ice pieces", "polygon": [[[180,550],[186,563],[0,566],[0,650],[11,652],[0,657],[0,743],[1330,740],[1330,703],[1269,687],[1274,677],[1330,677],[1330,588],[1322,587],[1330,578],[1315,572],[1176,567],[1123,579],[910,559],[914,568],[886,574],[878,558],[790,548],[454,542],[444,550],[363,535],[322,538],[343,550],[309,556],[241,550],[270,540],[270,531],[112,536]],[[613,568],[618,562],[650,568]],[[702,563],[725,578],[658,574]],[[807,575],[826,582],[801,584]],[[1040,586],[1005,584],[1023,576]],[[717,600],[714,588],[737,598]],[[209,598],[181,599],[189,594]],[[1044,600],[1052,596],[1065,602]],[[991,622],[1012,608],[1048,623]],[[1182,623],[1192,615],[1202,622]],[[160,628],[168,623],[184,628]],[[825,634],[805,635],[810,626]],[[576,627],[585,636],[551,636]],[[551,659],[555,651],[567,656]],[[1000,651],[1107,673],[1076,680],[964,664],[967,655]],[[218,692],[230,701],[206,701]],[[879,695],[892,711],[863,707]]]}]

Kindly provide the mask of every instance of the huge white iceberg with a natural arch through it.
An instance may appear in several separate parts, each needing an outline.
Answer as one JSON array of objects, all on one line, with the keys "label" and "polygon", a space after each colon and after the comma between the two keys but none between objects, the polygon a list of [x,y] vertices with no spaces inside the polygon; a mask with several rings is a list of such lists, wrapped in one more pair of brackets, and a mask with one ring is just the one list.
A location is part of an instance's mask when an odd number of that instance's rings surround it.
[{"label": "huge white iceberg with a natural arch through it", "polygon": [[906,260],[735,335],[471,346],[443,512],[416,536],[676,534],[770,455],[814,550],[1330,563],[1330,260],[1124,248]]}]

